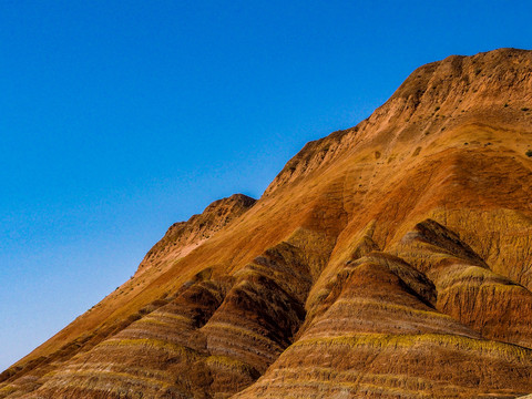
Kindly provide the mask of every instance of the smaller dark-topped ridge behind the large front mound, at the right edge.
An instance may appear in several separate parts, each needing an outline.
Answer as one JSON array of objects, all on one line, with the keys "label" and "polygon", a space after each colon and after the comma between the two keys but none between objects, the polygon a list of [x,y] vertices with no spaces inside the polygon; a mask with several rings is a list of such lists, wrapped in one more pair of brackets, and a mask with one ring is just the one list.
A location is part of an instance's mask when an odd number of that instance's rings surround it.
[{"label": "smaller dark-topped ridge behind the large front mound, at the right edge", "polygon": [[434,283],[438,309],[485,338],[532,348],[532,293],[490,270],[454,233],[426,221],[396,252]]}]

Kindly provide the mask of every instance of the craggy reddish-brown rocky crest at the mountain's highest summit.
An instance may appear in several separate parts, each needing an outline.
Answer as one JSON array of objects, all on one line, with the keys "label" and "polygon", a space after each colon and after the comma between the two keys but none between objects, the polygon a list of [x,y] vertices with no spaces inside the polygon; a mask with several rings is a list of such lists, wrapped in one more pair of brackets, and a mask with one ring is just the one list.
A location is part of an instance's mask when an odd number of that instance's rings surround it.
[{"label": "craggy reddish-brown rocky crest at the mountain's highest summit", "polygon": [[400,142],[422,147],[466,124],[529,131],[531,111],[532,51],[498,49],[469,57],[450,55],[415,70],[385,104],[357,126],[305,145],[265,195],[327,167],[356,147],[376,147],[376,156],[392,153]]}]

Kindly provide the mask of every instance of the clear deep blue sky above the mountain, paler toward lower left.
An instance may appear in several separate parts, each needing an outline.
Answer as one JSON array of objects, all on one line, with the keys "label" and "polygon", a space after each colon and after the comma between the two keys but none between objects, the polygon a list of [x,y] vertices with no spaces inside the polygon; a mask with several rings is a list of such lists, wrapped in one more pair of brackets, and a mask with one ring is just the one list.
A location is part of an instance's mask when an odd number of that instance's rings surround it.
[{"label": "clear deep blue sky above the mountain, paler toward lower left", "polygon": [[417,66],[532,48],[530,1],[0,0],[0,370],[176,221],[260,196]]}]

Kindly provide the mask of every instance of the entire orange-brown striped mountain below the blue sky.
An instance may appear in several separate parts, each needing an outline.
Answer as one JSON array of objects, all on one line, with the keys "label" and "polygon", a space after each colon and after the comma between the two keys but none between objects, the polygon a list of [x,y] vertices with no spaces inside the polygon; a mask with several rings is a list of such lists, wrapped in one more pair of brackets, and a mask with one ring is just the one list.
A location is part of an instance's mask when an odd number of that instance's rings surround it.
[{"label": "entire orange-brown striped mountain below the blue sky", "polygon": [[260,200],[175,224],[0,398],[532,392],[532,52],[416,70]]}]

